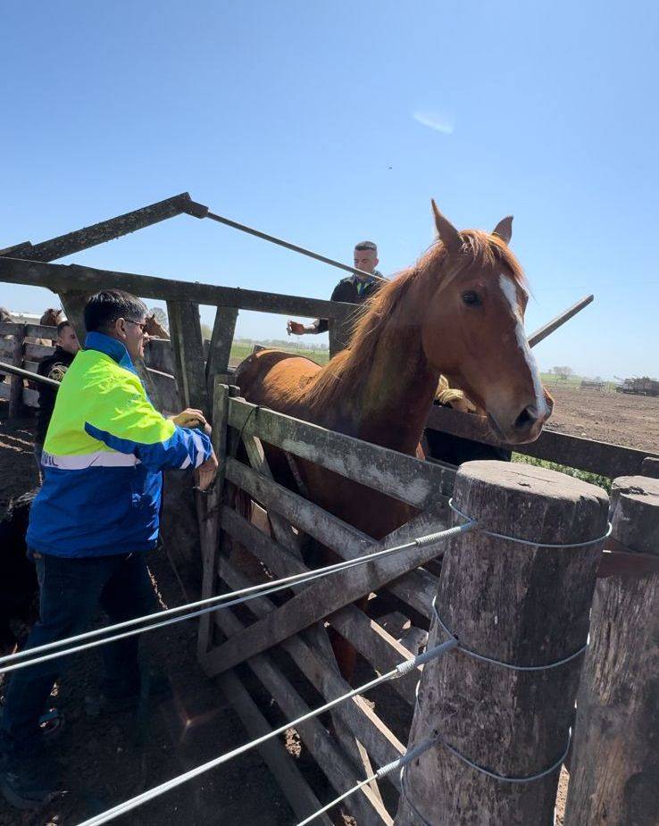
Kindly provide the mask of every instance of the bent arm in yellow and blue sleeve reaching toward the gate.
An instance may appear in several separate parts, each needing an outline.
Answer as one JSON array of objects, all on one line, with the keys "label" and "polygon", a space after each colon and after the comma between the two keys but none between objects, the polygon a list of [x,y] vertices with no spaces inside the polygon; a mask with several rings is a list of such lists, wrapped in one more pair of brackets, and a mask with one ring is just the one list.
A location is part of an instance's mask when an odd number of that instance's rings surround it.
[{"label": "bent arm in yellow and blue sleeve reaching toward the gate", "polygon": [[213,458],[210,438],[165,419],[146,398],[137,377],[99,394],[85,430],[113,450],[136,456],[152,471],[198,468]]}]

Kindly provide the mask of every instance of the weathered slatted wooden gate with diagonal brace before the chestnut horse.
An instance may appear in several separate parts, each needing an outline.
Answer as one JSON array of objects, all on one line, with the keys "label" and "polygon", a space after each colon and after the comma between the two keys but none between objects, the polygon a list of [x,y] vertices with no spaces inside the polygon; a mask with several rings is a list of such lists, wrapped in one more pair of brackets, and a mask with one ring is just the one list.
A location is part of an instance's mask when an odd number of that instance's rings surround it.
[{"label": "weathered slatted wooden gate with diagonal brace before the chestnut horse", "polygon": [[[217,544],[215,538],[211,539],[204,556],[204,597],[252,585],[259,572],[267,571],[272,578],[279,578],[307,571],[302,550],[308,538],[329,547],[340,559],[349,560],[446,527],[447,496],[455,471],[256,408],[237,397],[237,393],[238,388],[216,385],[213,421],[224,483],[209,497],[209,513],[219,513],[219,536]],[[222,427],[222,422],[226,427]],[[245,444],[248,463],[236,457],[238,438]],[[297,458],[318,464],[413,505],[418,513],[403,527],[375,542],[313,504],[301,492],[272,480],[263,442],[287,451],[294,467]],[[237,488],[263,507],[267,523],[262,520],[260,525],[256,524],[256,520],[246,519],[231,505]],[[251,566],[251,572],[241,570],[233,562],[231,548],[235,542],[248,549],[259,563]],[[406,648],[353,603],[384,589],[396,597],[403,613],[417,618],[427,629],[438,579],[420,566],[431,563],[437,555],[437,546],[391,555],[323,578],[303,590],[294,589],[279,605],[271,598],[259,597],[249,602],[248,616],[244,611],[218,611],[213,620],[206,617],[200,628],[199,655],[204,670],[209,676],[224,675],[221,680],[227,696],[232,700],[239,697],[237,710],[246,722],[254,707],[245,686],[238,686],[236,672],[229,675],[239,663],[249,665],[284,717],[293,719],[309,709],[296,688],[296,674],[291,674],[290,667],[282,667],[278,655],[273,656],[273,647],[278,645],[288,655],[288,665],[295,663],[295,671],[304,675],[323,698],[321,702],[341,696],[350,687],[338,672],[326,624],[355,647],[374,672],[388,672],[411,659],[416,650]],[[419,673],[412,672],[391,683],[397,703],[405,706],[408,717],[413,710],[418,679]],[[299,733],[338,793],[354,786],[364,772],[370,773],[371,758],[382,766],[405,751],[405,743],[363,697],[338,707],[334,732],[337,737],[313,720],[304,723]],[[279,763],[277,758],[267,753],[263,756],[274,771]],[[397,787],[396,776],[391,781]],[[300,784],[304,784],[304,796]],[[314,811],[313,793],[304,780],[297,778],[295,784],[287,783],[283,788],[298,815]],[[389,811],[383,798],[389,801]],[[360,824],[393,822],[395,807],[391,795],[382,795],[377,786],[365,787],[349,806]]]}]

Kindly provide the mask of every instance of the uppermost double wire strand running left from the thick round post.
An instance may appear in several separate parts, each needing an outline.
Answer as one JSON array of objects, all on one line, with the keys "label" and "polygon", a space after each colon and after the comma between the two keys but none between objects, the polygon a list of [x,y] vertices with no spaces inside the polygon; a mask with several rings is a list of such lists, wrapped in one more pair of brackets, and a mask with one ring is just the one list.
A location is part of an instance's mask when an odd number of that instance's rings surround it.
[{"label": "uppermost double wire strand running left from the thick round post", "polygon": [[[102,646],[105,643],[115,642],[119,639],[132,637],[135,634],[141,634],[145,631],[164,628],[167,625],[173,624],[174,622],[182,622],[183,620],[193,619],[194,617],[204,615],[204,613],[212,613],[213,611],[221,610],[222,608],[229,608],[232,605],[240,605],[241,603],[248,602],[249,600],[254,599],[256,597],[264,597],[276,593],[277,591],[284,590],[285,588],[289,588],[292,585],[303,585],[307,582],[311,582],[313,580],[318,580],[321,577],[328,576],[329,574],[346,571],[350,568],[354,568],[355,566],[362,565],[364,563],[371,563],[375,560],[382,559],[383,557],[386,557],[388,555],[409,550],[413,547],[424,547],[428,545],[434,545],[435,543],[440,542],[444,539],[449,539],[461,533],[465,533],[468,530],[473,530],[474,526],[475,522],[471,521],[464,525],[457,525],[453,528],[448,528],[446,530],[435,531],[424,537],[419,537],[413,539],[410,542],[406,542],[403,545],[384,548],[383,550],[376,551],[373,554],[365,554],[363,556],[355,557],[355,559],[349,559],[340,563],[326,565],[323,568],[318,568],[313,571],[296,573],[291,576],[284,577],[280,580],[274,580],[272,582],[263,582],[260,585],[253,585],[249,588],[241,588],[237,591],[229,591],[229,593],[221,594],[219,597],[209,597],[207,599],[197,600],[193,603],[188,603],[188,605],[179,605],[176,608],[168,608],[165,611],[149,613],[146,614],[146,616],[137,617],[134,620],[118,622],[115,625],[106,626],[105,628],[86,631],[83,634],[78,634],[74,637],[69,637],[65,639],[55,640],[54,642],[46,643],[46,645],[43,646],[27,648],[23,651],[18,652],[17,654],[0,657],[0,665],[3,666],[2,668],[0,668],[0,674],[16,671],[20,668],[26,668],[29,665],[44,663],[49,660],[56,659],[60,656],[76,654],[80,651],[85,651],[88,648]],[[154,620],[157,620],[159,617],[171,616],[172,614],[189,611],[190,609],[198,608],[199,606],[205,607],[197,611],[192,611],[191,613],[186,613],[184,616],[175,617],[164,622],[153,622]],[[152,624],[148,624],[139,628],[133,627],[136,625],[140,625],[144,622],[149,622]],[[101,639],[97,639],[98,637],[101,637],[104,634],[110,635],[116,630],[131,627],[133,627],[132,630],[126,631],[124,633],[114,634],[113,636],[107,636]],[[71,643],[78,643],[84,639],[90,638],[96,639],[94,642],[89,642],[85,645],[64,648],[63,650],[54,651],[54,653],[51,654],[42,655],[43,652],[52,651],[54,648],[59,649],[67,645],[71,646]],[[5,665],[4,663],[10,664]]]}]

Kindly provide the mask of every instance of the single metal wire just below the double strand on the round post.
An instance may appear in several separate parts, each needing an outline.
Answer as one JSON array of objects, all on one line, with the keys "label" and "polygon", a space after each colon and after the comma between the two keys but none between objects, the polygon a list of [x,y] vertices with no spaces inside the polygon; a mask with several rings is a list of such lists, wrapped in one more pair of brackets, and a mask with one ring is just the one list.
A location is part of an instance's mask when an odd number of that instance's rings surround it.
[{"label": "single metal wire just below the double strand on the round post", "polygon": [[[429,659],[435,659],[436,657],[440,657],[446,654],[446,651],[450,651],[451,648],[455,647],[455,645],[455,639],[448,639],[446,640],[446,642],[443,642],[441,645],[432,648],[425,654],[419,655],[419,657],[415,657],[414,660],[419,660],[419,664],[427,663]],[[171,778],[171,780],[166,780],[159,786],[150,788],[147,791],[142,792],[142,794],[137,795],[136,797],[131,797],[129,800],[124,800],[122,803],[113,806],[111,809],[107,809],[107,811],[102,812],[100,814],[96,814],[93,817],[88,818],[88,820],[79,823],[79,826],[101,826],[101,824],[110,822],[114,820],[116,817],[119,817],[121,814],[131,812],[133,809],[137,809],[138,806],[148,803],[155,797],[160,797],[161,795],[165,794],[165,792],[171,791],[172,788],[177,788],[178,786],[182,785],[188,780],[193,780],[200,774],[208,772],[211,769],[220,766],[222,763],[228,763],[229,760],[231,760],[232,758],[238,757],[238,755],[242,755],[246,751],[249,751],[254,747],[261,746],[262,743],[264,743],[266,740],[278,737],[279,734],[283,734],[288,729],[295,728],[296,726],[301,725],[307,720],[311,720],[313,717],[317,717],[319,714],[325,713],[330,709],[334,708],[335,706],[340,705],[346,700],[349,700],[352,697],[356,697],[358,694],[363,694],[366,691],[369,691],[371,688],[376,688],[377,686],[381,685],[383,682],[387,682],[388,680],[396,680],[398,677],[401,677],[406,673],[405,667],[407,666],[407,664],[408,661],[405,661],[405,663],[399,663],[396,666],[396,668],[392,669],[390,672],[382,674],[380,675],[380,677],[376,677],[374,680],[365,683],[363,686],[360,686],[359,688],[353,688],[341,697],[336,697],[333,700],[329,700],[328,703],[321,705],[319,708],[316,708],[311,712],[303,714],[301,717],[297,717],[296,720],[284,723],[284,725],[279,726],[278,729],[273,729],[269,731],[267,734],[263,734],[259,738],[250,740],[243,746],[238,746],[237,748],[234,748],[231,751],[226,752],[224,755],[215,757],[213,758],[213,760],[209,760],[207,763],[202,763],[202,765],[196,766],[194,769],[190,769],[188,772],[184,772],[183,774],[179,774],[177,777]]]}]

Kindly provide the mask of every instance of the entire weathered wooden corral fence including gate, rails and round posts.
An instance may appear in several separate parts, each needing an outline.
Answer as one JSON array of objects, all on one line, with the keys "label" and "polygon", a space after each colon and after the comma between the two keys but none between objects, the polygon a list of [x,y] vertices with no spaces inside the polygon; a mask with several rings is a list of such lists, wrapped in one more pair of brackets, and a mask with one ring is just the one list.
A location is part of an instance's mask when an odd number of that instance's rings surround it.
[{"label": "entire weathered wooden corral fence including gate, rails and round posts", "polygon": [[[65,238],[68,246],[54,245],[54,252],[70,254],[75,239]],[[25,254],[34,249],[29,245]],[[594,588],[592,642],[571,757],[578,780],[571,785],[566,826],[601,824],[601,812],[610,823],[655,822],[659,482],[637,475],[646,453],[548,430],[521,448],[611,478],[633,477],[613,487],[613,535],[603,557],[604,541],[588,542],[605,534],[608,503],[599,488],[514,463],[467,463],[456,471],[255,408],[238,396],[230,385],[229,351],[239,309],[344,324],[351,305],[2,256],[0,280],[54,290],[80,338],[81,308],[98,289],[121,287],[166,301],[180,406],[212,412],[220,459],[214,488],[196,494],[197,535],[192,541],[179,537],[188,544],[175,557],[179,572],[201,557],[204,597],[304,572],[304,552],[313,542],[349,560],[460,523],[463,516],[449,508],[451,496],[459,510],[496,534],[473,530],[444,546],[420,544],[200,622],[200,662],[218,677],[254,736],[346,693],[328,627],[355,647],[358,676],[367,678],[413,659],[427,632],[429,645],[447,633],[457,635],[455,650],[422,671],[391,680],[376,697],[339,705],[331,720],[300,725],[304,746],[336,794],[405,755],[408,746],[427,747],[406,766],[403,780],[390,772],[346,800],[360,826],[467,826],[479,823],[484,812],[501,826],[553,822],[557,771],[583,660],[571,655],[586,642]],[[216,307],[207,354],[199,304]],[[3,339],[12,346],[14,363],[37,355],[24,344],[28,331],[23,326]],[[154,403],[165,409],[152,374],[138,366]],[[26,392],[21,388],[23,401]],[[476,416],[435,407],[428,425],[498,446]],[[241,441],[246,462],[239,459]],[[263,444],[285,451],[298,478],[296,463],[315,463],[411,505],[415,515],[374,542],[310,502],[301,479],[297,490],[273,480]],[[237,490],[254,502],[251,514],[234,506]],[[179,497],[166,505],[177,517],[180,507]],[[598,570],[604,578],[596,584]],[[355,606],[358,598],[375,594],[364,611]],[[405,634],[410,624],[421,635]],[[254,700],[254,690],[263,688],[276,704],[268,712],[274,720]],[[279,742],[263,746],[262,755],[296,814],[318,811],[327,791],[304,780]],[[546,769],[553,771],[535,779]],[[318,822],[329,826],[325,815]]]}]

